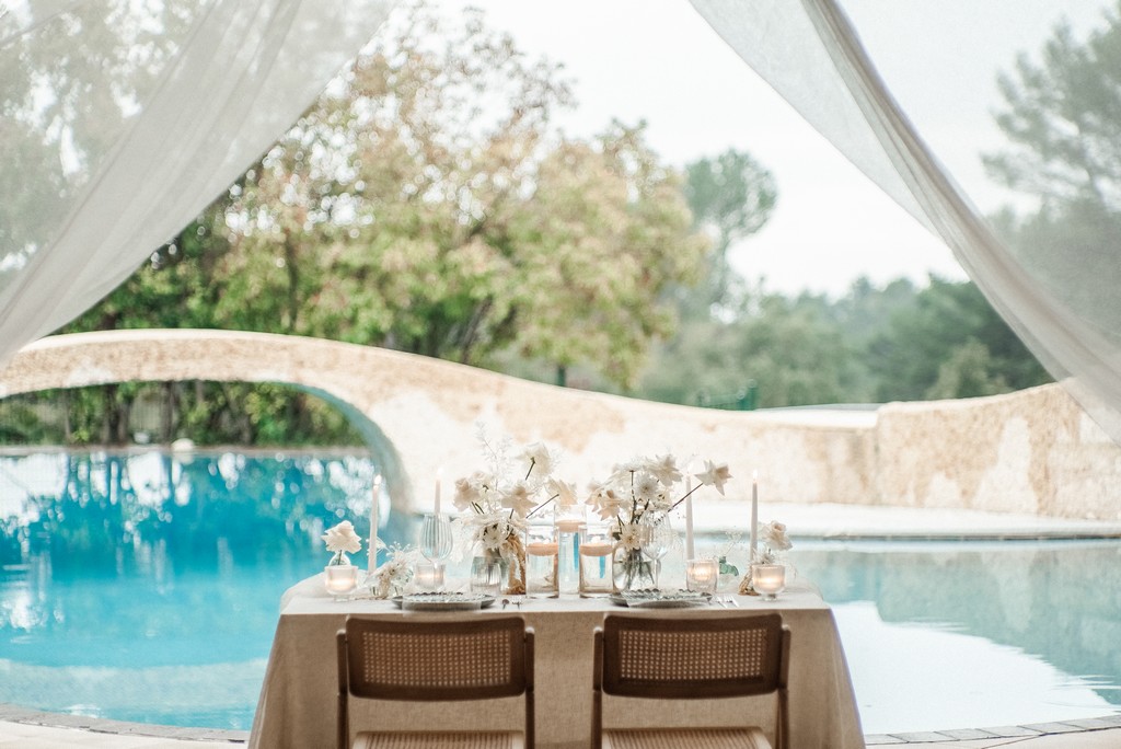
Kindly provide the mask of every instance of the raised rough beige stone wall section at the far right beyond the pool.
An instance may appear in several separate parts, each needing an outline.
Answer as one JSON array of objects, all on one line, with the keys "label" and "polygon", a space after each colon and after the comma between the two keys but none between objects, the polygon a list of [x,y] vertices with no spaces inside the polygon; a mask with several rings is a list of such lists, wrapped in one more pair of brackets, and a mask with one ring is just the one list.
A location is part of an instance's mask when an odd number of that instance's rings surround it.
[{"label": "raised rough beige stone wall section at the far right beyond the pool", "polygon": [[1057,385],[879,409],[886,505],[1121,519],[1121,449]]}]

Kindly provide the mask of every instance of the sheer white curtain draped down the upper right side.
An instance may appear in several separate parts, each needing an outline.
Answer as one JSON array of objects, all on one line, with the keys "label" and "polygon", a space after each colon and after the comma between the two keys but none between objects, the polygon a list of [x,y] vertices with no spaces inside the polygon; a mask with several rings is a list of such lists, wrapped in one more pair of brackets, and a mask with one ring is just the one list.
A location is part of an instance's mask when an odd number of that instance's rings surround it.
[{"label": "sheer white curtain draped down the upper right side", "polygon": [[[1031,235],[1021,230],[1013,232],[1020,244],[1012,248],[997,237],[971,201],[973,191],[979,195],[993,192],[979,168],[982,154],[1013,146],[1002,141],[992,127],[994,113],[1008,103],[997,95],[998,72],[1015,71],[1016,53],[1037,52],[1041,56],[1046,39],[1064,24],[1087,29],[1096,28],[1095,24],[1108,25],[1104,3],[1003,3],[1003,15],[994,18],[992,3],[852,0],[845,6],[859,13],[854,25],[835,0],[692,2],[735,53],[815,129],[943,238],[1040,362],[1106,433],[1121,442],[1121,294],[1117,292],[1121,235],[1114,231],[1115,224],[1103,223],[1102,231],[1088,239],[1072,235],[1078,231],[1077,224],[1065,234],[1054,230]],[[1038,18],[1032,20],[1039,20],[1049,37],[1039,37],[1038,28],[1035,37],[1017,37],[1020,44],[1023,38],[1034,43],[1028,43],[1028,48],[1003,45],[1008,56],[997,61],[1002,67],[992,70],[984,64],[983,47],[993,46],[1001,35],[1023,30],[1018,13],[1035,13]],[[1068,13],[1074,15],[1074,20]],[[926,22],[916,15],[926,15]],[[864,28],[877,35],[877,48],[868,49],[862,44],[858,33]],[[883,65],[878,52],[882,52]],[[946,55],[945,59],[938,57],[939,53]],[[955,70],[962,59],[969,63],[965,75]],[[892,64],[900,68],[895,78]],[[909,76],[907,67],[914,68]],[[1102,77],[1110,77],[1108,65],[1103,66]],[[889,91],[884,80],[898,85]],[[947,81],[955,92],[953,96],[924,100],[921,94],[928,93],[924,89],[946,90]],[[1105,85],[1117,86],[1117,81],[1106,81]],[[899,96],[893,95],[897,91]],[[900,105],[901,98],[915,103],[918,121]],[[1114,99],[1102,99],[1101,110],[1109,114]],[[983,105],[967,105],[974,100]],[[1112,126],[1112,131],[1121,133],[1119,117],[1121,112],[1112,111],[1114,121],[1099,127],[1110,132]],[[920,136],[924,124],[932,133],[951,133],[947,150],[961,151],[954,154],[957,170],[953,176]],[[1056,127],[1067,124],[1058,122]],[[1077,142],[1078,137],[1072,140]],[[1093,147],[1088,137],[1086,145]],[[1047,211],[1038,212],[1040,204],[1047,205],[1053,196],[1045,184],[1031,187],[1035,195],[1025,191],[1018,203],[1015,195],[1002,194],[1001,198],[1038,222],[1039,216],[1049,215]],[[998,205],[991,202],[990,211]],[[1054,222],[1050,226],[1055,228]]]}]

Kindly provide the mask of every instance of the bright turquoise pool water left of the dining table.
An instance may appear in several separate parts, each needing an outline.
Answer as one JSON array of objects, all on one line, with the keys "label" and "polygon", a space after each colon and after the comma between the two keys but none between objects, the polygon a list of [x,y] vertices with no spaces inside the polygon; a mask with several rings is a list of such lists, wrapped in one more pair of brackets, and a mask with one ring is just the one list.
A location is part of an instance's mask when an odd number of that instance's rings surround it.
[{"label": "bright turquoise pool water left of the dining table", "polygon": [[337,454],[0,457],[0,702],[248,729],[280,594],[330,560],[324,527],[369,537],[374,473]]}]

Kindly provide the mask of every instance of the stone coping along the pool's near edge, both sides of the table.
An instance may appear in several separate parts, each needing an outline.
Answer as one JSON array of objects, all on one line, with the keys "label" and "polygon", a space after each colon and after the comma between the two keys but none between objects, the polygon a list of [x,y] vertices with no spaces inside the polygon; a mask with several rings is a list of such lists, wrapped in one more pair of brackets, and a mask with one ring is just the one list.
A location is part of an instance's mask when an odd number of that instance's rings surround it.
[{"label": "stone coping along the pool's near edge, both sides of the table", "polygon": [[[234,731],[211,728],[184,728],[178,725],[161,725],[159,723],[133,723],[55,713],[31,708],[22,708],[11,703],[0,702],[0,722],[29,723],[46,728],[73,729],[91,733],[109,733],[119,736],[150,736],[159,739],[177,739],[182,741],[225,741],[231,745],[248,743],[249,731]],[[905,731],[897,733],[868,733],[864,743],[869,747],[900,746],[908,743],[937,743],[945,741],[967,741],[971,739],[1001,738],[1037,738],[1059,733],[1088,733],[1121,729],[1121,709],[1100,718],[1083,718],[1047,723],[1027,723],[1025,725],[1001,725],[976,729],[949,729],[941,731]]]}]

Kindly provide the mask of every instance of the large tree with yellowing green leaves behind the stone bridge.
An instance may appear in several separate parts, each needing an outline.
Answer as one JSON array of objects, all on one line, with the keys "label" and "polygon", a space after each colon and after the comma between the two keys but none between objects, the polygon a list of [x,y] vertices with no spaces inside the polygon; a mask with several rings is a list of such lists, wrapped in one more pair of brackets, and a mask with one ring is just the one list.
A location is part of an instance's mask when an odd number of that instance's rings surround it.
[{"label": "large tree with yellowing green leaves behind the stone bridge", "polygon": [[632,385],[705,249],[679,176],[642,126],[553,132],[567,84],[478,11],[454,27],[418,6],[392,31],[248,175],[220,314]]}]

